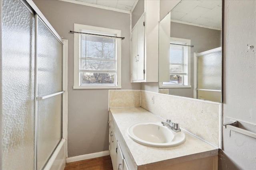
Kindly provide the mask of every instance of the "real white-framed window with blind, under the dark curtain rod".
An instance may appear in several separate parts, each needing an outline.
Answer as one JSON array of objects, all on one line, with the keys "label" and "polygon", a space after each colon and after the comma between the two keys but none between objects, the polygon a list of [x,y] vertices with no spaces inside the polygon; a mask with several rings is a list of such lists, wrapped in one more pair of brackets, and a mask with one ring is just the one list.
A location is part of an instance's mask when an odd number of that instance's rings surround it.
[{"label": "real white-framed window with blind, under the dark curtain rod", "polygon": [[[74,24],[74,88],[121,88],[121,31]],[[90,35],[90,34],[97,35]]]}]

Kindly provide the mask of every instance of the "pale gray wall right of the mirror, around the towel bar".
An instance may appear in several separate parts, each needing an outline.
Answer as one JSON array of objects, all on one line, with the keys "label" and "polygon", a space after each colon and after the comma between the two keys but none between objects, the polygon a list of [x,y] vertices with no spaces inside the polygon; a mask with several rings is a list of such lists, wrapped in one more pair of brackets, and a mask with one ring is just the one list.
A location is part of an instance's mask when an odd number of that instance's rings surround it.
[{"label": "pale gray wall right of the mirror, around the towel bar", "polygon": [[[224,1],[223,37],[223,117],[256,124],[255,0]],[[255,170],[256,139],[223,129],[218,168]]]}]

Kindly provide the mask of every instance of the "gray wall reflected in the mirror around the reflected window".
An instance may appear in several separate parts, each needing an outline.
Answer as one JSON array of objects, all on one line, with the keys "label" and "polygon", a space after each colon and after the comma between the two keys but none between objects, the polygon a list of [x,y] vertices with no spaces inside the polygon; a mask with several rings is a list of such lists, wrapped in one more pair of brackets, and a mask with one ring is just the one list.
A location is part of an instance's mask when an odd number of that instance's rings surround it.
[{"label": "gray wall reflected in the mirror around the reflected window", "polygon": [[221,31],[171,22],[171,37],[190,39],[190,84],[191,88],[170,88],[169,94],[175,96],[194,97],[194,53],[201,53],[220,47]]}]

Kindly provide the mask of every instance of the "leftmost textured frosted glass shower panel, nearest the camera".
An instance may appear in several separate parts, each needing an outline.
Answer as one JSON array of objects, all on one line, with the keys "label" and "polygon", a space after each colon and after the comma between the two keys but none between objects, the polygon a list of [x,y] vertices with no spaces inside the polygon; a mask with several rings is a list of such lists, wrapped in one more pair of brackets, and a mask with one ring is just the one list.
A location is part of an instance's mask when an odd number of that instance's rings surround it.
[{"label": "leftmost textured frosted glass shower panel, nearest the camera", "polygon": [[0,169],[32,170],[35,18],[19,0],[0,8]]}]

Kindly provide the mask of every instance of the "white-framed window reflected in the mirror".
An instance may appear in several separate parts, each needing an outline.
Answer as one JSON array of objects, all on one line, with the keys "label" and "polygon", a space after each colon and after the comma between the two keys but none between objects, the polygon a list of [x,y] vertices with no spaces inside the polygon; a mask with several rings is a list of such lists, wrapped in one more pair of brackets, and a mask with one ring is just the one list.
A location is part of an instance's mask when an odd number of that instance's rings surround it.
[{"label": "white-framed window reflected in the mirror", "polygon": [[160,87],[190,88],[190,40],[171,38],[169,51],[169,82],[163,82]]}]

